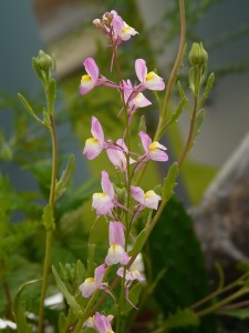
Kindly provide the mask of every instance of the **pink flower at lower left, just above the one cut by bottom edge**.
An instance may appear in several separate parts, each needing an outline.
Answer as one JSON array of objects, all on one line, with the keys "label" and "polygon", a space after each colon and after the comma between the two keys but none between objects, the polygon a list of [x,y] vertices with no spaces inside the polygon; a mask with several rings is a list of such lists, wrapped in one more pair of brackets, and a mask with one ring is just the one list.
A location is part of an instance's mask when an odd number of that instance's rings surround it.
[{"label": "pink flower at lower left, just above the one cut by bottom edge", "polygon": [[87,299],[92,296],[92,294],[97,290],[104,290],[107,283],[102,282],[104,279],[106,268],[105,264],[97,266],[94,271],[94,278],[87,278],[85,281],[79,286],[79,290],[82,293],[82,296]]}]

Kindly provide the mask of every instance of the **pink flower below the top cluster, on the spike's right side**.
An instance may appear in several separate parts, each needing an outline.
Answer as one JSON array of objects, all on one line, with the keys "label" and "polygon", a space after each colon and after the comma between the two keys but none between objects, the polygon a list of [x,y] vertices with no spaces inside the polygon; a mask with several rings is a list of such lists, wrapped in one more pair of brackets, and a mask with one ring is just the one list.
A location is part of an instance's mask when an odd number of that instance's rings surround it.
[{"label": "pink flower below the top cluster, on the spike's right side", "polygon": [[165,83],[163,78],[158,77],[155,72],[147,72],[146,62],[144,59],[136,59],[135,71],[138,80],[142,83],[141,90],[164,90]]}]

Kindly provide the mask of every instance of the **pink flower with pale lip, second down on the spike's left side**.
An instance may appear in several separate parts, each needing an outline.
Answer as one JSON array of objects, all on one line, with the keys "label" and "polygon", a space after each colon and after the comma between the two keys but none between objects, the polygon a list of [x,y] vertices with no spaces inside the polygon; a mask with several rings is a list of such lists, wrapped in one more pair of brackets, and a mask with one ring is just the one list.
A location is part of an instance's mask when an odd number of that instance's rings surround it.
[{"label": "pink flower with pale lip, second down on the spike's left side", "polygon": [[105,148],[104,132],[100,121],[95,117],[92,117],[91,132],[93,138],[85,141],[85,148],[83,150],[83,154],[85,154],[89,160],[95,159],[102,152],[103,148]]}]

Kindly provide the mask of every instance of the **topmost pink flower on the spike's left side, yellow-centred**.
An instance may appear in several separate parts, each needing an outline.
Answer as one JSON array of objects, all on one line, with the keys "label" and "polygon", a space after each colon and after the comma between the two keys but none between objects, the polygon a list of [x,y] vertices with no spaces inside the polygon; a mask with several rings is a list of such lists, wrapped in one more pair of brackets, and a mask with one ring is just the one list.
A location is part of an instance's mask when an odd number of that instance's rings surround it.
[{"label": "topmost pink flower on the spike's left side, yellow-centred", "polygon": [[100,75],[98,67],[93,58],[86,58],[83,65],[87,74],[84,74],[81,79],[80,94],[82,95],[89,93],[97,84]]}]

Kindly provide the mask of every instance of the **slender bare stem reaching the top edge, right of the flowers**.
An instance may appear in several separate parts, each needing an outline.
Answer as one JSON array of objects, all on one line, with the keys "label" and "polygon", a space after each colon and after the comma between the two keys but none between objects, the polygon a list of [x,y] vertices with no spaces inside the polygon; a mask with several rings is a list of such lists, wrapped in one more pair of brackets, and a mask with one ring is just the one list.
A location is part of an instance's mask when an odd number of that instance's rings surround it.
[{"label": "slender bare stem reaching the top edge, right of the flowers", "polygon": [[180,40],[179,40],[179,47],[178,47],[178,52],[176,56],[176,61],[174,63],[174,67],[172,69],[167,88],[165,91],[165,98],[164,98],[164,103],[163,103],[163,111],[160,112],[159,117],[159,122],[157,125],[157,130],[154,137],[154,141],[158,141],[159,138],[162,137],[162,129],[165,124],[165,119],[166,119],[166,113],[168,110],[168,103],[170,100],[170,94],[172,94],[172,89],[174,87],[174,83],[176,81],[177,72],[181,63],[183,54],[184,54],[184,49],[185,49],[185,38],[186,38],[186,20],[185,20],[185,3],[184,0],[179,0],[179,14],[180,14]]}]

